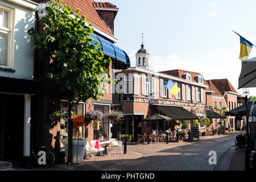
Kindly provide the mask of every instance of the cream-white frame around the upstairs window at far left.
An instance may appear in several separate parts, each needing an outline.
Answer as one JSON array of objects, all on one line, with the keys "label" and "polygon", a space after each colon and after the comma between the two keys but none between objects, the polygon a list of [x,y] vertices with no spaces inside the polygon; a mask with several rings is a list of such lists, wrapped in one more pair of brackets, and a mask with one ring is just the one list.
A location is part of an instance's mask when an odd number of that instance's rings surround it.
[{"label": "cream-white frame around the upstairs window at far left", "polygon": [[0,5],[0,9],[9,13],[9,28],[0,26],[0,32],[8,35],[7,65],[0,65],[2,68],[14,68],[14,9]]}]

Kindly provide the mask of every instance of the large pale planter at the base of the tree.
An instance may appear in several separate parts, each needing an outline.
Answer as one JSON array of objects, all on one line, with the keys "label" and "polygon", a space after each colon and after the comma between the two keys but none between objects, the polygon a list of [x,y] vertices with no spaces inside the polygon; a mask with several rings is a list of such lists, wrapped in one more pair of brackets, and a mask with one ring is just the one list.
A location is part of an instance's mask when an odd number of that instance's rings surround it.
[{"label": "large pale planter at the base of the tree", "polygon": [[[68,140],[64,140],[65,145],[65,155],[66,155],[66,162],[68,159]],[[82,159],[84,159],[84,150],[85,146],[87,144],[87,140],[79,140],[79,146],[78,146],[78,157],[77,157],[77,163],[81,164]],[[73,164],[76,164],[76,156],[77,156],[77,140],[73,140]]]}]

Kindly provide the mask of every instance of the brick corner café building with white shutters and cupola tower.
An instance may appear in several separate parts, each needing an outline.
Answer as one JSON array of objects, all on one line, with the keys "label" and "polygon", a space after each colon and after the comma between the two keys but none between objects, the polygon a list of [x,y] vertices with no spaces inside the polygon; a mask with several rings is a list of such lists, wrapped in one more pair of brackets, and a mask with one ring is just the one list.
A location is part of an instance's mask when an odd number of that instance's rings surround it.
[{"label": "brick corner caf\u00e9 building with white shutters and cupola tower", "polygon": [[[121,133],[131,134],[136,140],[137,134],[151,132],[156,127],[161,131],[168,127],[174,129],[178,121],[184,121],[185,127],[189,128],[193,119],[198,119],[200,131],[205,131],[200,119],[207,117],[207,93],[214,90],[197,72],[181,69],[155,72],[148,69],[149,55],[142,44],[136,53],[136,67],[115,71],[115,78],[123,84],[122,93],[115,93],[113,97],[115,107],[125,113]],[[169,79],[181,90],[176,96],[164,88]],[[168,115],[172,121],[143,121],[155,113]]]}]

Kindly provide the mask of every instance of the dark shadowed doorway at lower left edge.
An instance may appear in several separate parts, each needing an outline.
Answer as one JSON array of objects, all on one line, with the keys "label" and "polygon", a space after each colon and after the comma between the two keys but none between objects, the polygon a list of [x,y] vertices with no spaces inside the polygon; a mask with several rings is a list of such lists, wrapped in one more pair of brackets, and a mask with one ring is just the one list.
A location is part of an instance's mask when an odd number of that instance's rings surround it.
[{"label": "dark shadowed doorway at lower left edge", "polygon": [[20,161],[23,156],[24,96],[0,94],[0,157]]}]

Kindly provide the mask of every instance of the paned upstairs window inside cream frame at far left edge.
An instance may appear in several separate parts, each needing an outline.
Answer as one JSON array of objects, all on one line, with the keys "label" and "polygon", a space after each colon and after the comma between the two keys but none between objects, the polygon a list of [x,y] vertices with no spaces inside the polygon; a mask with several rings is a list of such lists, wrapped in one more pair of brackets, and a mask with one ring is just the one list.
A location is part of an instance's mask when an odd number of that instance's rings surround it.
[{"label": "paned upstairs window inside cream frame at far left edge", "polygon": [[8,66],[10,49],[10,12],[0,7],[0,65]]}]

